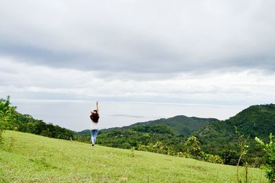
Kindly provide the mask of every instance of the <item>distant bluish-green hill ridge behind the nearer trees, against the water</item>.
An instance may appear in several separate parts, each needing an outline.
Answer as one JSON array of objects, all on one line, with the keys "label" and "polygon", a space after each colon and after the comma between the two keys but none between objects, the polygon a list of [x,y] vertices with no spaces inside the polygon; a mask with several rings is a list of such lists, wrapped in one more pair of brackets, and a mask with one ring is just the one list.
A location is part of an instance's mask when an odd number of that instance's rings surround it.
[{"label": "distant bluish-green hill ridge behind the nearer trees, against the water", "polygon": [[[157,119],[154,121],[146,121],[135,123],[133,125],[124,126],[124,127],[113,127],[109,129],[102,130],[111,131],[111,130],[129,130],[135,126],[153,126],[153,125],[168,125],[176,134],[181,134],[183,136],[190,136],[193,132],[197,132],[203,125],[206,125],[213,121],[219,121],[218,119],[212,118],[197,118],[197,117],[186,117],[184,115],[171,117],[168,119]],[[79,132],[80,134],[89,134],[89,130],[83,130]]]}]

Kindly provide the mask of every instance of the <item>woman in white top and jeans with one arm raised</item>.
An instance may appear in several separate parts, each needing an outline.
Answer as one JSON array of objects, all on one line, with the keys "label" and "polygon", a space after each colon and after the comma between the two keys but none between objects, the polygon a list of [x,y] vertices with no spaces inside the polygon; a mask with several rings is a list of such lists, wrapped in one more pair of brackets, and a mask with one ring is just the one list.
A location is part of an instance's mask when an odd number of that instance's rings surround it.
[{"label": "woman in white top and jeans with one arm raised", "polygon": [[99,119],[99,112],[98,112],[98,101],[96,101],[96,110],[91,111],[91,145],[96,144],[96,137],[98,136],[98,119]]}]

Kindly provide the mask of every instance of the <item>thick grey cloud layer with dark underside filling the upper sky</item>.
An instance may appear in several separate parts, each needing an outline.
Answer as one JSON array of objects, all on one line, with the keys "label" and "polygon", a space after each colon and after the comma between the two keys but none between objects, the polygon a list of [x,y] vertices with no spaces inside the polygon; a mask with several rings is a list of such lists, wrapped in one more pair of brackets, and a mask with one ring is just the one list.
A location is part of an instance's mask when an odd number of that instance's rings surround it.
[{"label": "thick grey cloud layer with dark underside filling the upper sky", "polygon": [[274,72],[274,5],[259,0],[2,1],[0,53],[86,71]]}]

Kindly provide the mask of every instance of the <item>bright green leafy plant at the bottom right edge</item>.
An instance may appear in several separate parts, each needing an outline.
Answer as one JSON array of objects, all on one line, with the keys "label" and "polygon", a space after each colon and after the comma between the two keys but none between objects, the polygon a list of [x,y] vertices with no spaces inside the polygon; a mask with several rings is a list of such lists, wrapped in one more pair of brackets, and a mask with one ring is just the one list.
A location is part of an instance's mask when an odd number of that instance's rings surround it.
[{"label": "bright green leafy plant at the bottom right edge", "polygon": [[267,165],[265,167],[265,177],[270,182],[275,182],[275,143],[274,136],[270,134],[270,143],[264,143],[260,138],[255,137],[255,141],[264,147],[265,156],[267,156]]}]

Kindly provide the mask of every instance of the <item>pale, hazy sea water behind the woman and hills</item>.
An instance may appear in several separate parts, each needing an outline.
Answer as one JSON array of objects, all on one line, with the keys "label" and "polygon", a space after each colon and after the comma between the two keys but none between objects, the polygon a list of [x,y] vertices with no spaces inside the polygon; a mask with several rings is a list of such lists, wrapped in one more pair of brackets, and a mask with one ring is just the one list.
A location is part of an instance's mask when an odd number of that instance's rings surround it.
[{"label": "pale, hazy sea water behind the woman and hills", "polygon": [[[95,101],[12,100],[12,104],[23,114],[77,132],[89,129],[89,111],[94,110],[94,103]],[[100,128],[122,127],[176,115],[228,119],[245,107],[247,106],[100,101]]]}]

